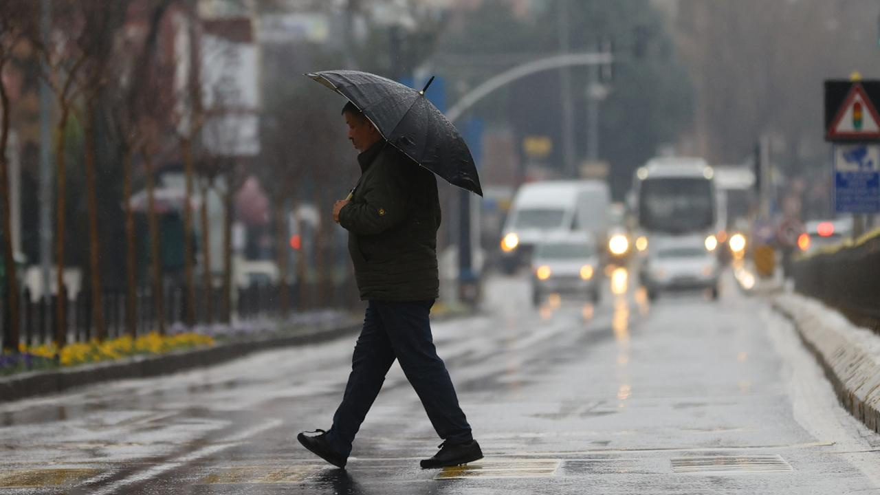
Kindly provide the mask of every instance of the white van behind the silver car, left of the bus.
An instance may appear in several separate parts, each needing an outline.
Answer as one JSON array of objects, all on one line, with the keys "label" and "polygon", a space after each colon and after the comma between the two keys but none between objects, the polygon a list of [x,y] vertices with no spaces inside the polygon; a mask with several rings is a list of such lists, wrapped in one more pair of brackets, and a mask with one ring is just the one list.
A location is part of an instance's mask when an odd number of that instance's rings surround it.
[{"label": "white van behind the silver car, left of the bus", "polygon": [[550,233],[579,231],[605,240],[611,195],[604,181],[539,181],[520,186],[502,229],[502,269],[531,260]]}]

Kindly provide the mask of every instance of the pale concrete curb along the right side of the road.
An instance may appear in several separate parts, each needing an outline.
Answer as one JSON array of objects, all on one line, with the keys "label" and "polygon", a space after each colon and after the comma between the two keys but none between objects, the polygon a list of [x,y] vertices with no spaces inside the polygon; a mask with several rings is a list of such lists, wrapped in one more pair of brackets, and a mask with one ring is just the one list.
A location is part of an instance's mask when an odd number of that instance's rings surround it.
[{"label": "pale concrete curb along the right side of the road", "polygon": [[843,407],[880,433],[880,352],[866,345],[876,336],[852,327],[818,301],[784,294],[774,299],[773,306],[792,321],[803,344],[825,369]]}]

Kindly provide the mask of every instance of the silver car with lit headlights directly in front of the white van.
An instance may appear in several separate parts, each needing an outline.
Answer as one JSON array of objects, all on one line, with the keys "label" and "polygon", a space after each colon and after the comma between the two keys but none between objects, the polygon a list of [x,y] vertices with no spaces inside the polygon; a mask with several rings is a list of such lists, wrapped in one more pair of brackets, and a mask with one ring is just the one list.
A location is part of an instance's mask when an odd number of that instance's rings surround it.
[{"label": "silver car with lit headlights directly in front of the white van", "polygon": [[547,294],[587,294],[600,299],[599,256],[589,235],[550,237],[535,247],[532,256],[532,304],[539,306]]}]

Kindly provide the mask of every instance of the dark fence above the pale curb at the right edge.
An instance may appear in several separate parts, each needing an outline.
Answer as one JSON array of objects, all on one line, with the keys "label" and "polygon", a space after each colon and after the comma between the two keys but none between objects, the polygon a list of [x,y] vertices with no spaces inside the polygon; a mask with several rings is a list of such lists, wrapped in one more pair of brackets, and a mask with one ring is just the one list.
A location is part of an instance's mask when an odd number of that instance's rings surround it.
[{"label": "dark fence above the pale curb at the right edge", "polygon": [[880,230],[794,262],[795,290],[880,334]]}]

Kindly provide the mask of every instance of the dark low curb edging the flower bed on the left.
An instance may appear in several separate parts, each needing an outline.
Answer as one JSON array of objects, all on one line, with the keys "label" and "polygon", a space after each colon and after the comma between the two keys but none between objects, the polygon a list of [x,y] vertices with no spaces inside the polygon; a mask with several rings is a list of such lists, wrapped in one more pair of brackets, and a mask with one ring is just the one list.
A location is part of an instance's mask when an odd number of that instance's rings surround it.
[{"label": "dark low curb edging the flower bed on the left", "polygon": [[218,344],[205,349],[177,351],[161,356],[136,356],[119,361],[76,366],[70,369],[18,373],[0,378],[0,403],[35,395],[55,394],[101,381],[146,378],[161,374],[212,366],[256,351],[302,344],[317,344],[356,333],[360,321],[326,329],[312,329],[287,335],[267,336]]}]

